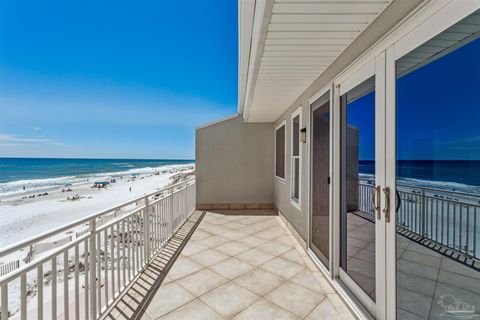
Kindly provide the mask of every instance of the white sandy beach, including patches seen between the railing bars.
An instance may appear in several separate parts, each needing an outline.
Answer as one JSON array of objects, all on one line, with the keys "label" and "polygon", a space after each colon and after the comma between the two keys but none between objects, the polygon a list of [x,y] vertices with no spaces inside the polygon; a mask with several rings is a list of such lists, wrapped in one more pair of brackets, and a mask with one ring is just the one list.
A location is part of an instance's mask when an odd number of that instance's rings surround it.
[{"label": "white sandy beach, including patches seen between the railing bars", "polygon": [[[156,173],[156,174],[155,174]],[[193,164],[178,164],[162,167],[161,170],[154,169],[150,173],[140,175],[124,175],[116,176],[115,182],[110,183],[105,188],[92,188],[95,181],[82,182],[68,187],[49,190],[47,195],[41,195],[45,192],[28,193],[16,195],[9,198],[4,197],[0,202],[0,247],[6,247],[21,240],[36,236],[45,231],[58,228],[62,225],[71,223],[80,218],[93,215],[103,210],[115,207],[129,200],[141,197],[145,194],[155,192],[163,187],[177,183],[178,179],[184,179],[187,176],[194,174]],[[106,179],[104,177],[103,180]],[[111,180],[111,178],[110,178]],[[71,191],[63,192],[62,189],[71,189]],[[35,197],[31,197],[35,194]],[[68,200],[78,195],[76,200]],[[125,209],[128,209],[125,207]],[[128,209],[130,210],[130,209]],[[120,210],[121,211],[121,210]],[[67,236],[67,233],[60,233],[61,238]],[[24,258],[27,256],[28,247],[0,258],[0,264],[9,263],[10,261],[19,260],[20,265],[24,265]],[[39,253],[35,258],[47,254],[48,251]],[[73,252],[70,252],[69,265],[73,266]],[[83,254],[83,249],[80,248],[80,254]],[[45,293],[51,291],[50,277],[51,264],[44,265],[44,290]],[[63,275],[63,261],[57,261],[58,275]],[[81,272],[83,274],[83,272]],[[73,281],[70,275],[69,282]],[[82,281],[83,281],[82,277]],[[64,280],[59,278],[59,283]],[[36,273],[30,272],[27,274],[27,286],[29,288],[28,309],[29,318],[34,318],[36,315],[36,296],[38,290],[36,285]],[[70,288],[73,288],[73,283]],[[9,285],[10,300],[9,310],[15,317],[18,318],[17,311],[20,307],[20,300],[18,293],[20,292],[20,283],[13,281]],[[61,289],[59,289],[61,290]],[[84,292],[81,292],[83,296]],[[73,292],[71,292],[73,297]],[[47,298],[44,300],[44,305],[50,305],[51,301]],[[82,300],[83,303],[83,300]],[[49,309],[49,308],[47,308]],[[72,309],[73,310],[73,309]],[[47,311],[48,312],[48,311]],[[59,310],[59,312],[63,312]]]}]

